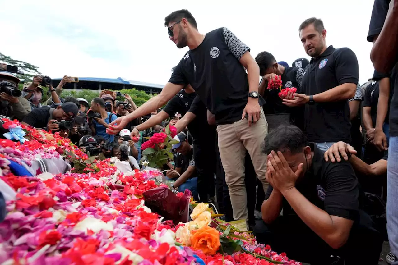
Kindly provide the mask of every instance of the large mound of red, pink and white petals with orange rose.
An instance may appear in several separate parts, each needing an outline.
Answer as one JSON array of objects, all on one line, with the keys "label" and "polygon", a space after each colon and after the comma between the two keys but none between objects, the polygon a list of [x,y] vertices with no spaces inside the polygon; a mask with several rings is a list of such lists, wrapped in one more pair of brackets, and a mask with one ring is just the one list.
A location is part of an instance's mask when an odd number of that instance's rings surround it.
[{"label": "large mound of red, pink and white petals with orange rose", "polygon": [[[0,141],[0,178],[16,191],[0,223],[0,264],[301,264],[212,217],[207,204],[197,205],[184,224],[151,212],[143,193],[158,187],[159,171],[124,175],[57,134],[23,129],[29,141]],[[8,168],[10,160],[28,163],[37,155],[89,167],[50,178],[16,176]]]}]

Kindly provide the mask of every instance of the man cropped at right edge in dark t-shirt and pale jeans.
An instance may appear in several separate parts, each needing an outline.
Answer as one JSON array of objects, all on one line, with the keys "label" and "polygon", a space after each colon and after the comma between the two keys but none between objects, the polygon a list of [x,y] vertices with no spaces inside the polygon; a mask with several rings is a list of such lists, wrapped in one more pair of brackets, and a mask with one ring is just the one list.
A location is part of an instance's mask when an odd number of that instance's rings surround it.
[{"label": "man cropped at right edge in dark t-shirt and pale jeans", "polygon": [[[391,73],[392,98],[389,119],[389,160],[387,163],[387,232],[390,249],[395,256],[398,255],[398,41],[392,36],[395,36],[398,32],[397,14],[396,0],[375,0],[367,36],[367,41],[373,42],[371,60],[375,70],[382,73]],[[381,104],[378,107],[382,107]],[[382,121],[380,119],[380,123]],[[396,260],[395,257],[394,259]],[[395,261],[394,264],[398,264],[398,261]]]}]

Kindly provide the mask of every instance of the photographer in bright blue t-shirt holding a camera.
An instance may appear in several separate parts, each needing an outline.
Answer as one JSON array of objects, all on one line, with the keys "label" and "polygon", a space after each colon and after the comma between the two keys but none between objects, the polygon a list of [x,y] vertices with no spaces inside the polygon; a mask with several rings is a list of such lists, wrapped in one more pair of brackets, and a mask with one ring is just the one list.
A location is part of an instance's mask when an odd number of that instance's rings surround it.
[{"label": "photographer in bright blue t-shirt holding a camera", "polygon": [[93,135],[99,135],[107,142],[113,142],[115,136],[106,133],[108,124],[117,119],[116,114],[110,113],[105,109],[105,102],[100,97],[91,101],[91,111],[87,113],[88,125]]}]

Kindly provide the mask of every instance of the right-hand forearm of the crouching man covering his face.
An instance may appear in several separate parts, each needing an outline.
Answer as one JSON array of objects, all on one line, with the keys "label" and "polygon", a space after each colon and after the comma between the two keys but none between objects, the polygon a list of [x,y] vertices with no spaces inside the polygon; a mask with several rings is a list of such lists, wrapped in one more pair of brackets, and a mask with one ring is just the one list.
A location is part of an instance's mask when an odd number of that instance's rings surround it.
[{"label": "right-hand forearm of the crouching man covering his face", "polygon": [[336,238],[338,230],[330,214],[313,205],[295,187],[282,194],[298,217],[326,243],[335,249],[345,243]]}]

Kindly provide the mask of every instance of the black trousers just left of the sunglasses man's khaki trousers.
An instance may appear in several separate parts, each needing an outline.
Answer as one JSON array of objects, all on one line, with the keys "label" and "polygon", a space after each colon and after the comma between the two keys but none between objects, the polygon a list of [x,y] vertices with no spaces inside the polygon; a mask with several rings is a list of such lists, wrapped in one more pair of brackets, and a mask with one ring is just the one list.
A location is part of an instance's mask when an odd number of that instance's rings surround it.
[{"label": "black trousers just left of the sunglasses man's khaki trousers", "polygon": [[197,172],[197,191],[199,201],[207,203],[209,197],[215,196],[214,174],[216,172],[216,135],[206,141],[193,140],[193,158]]}]

